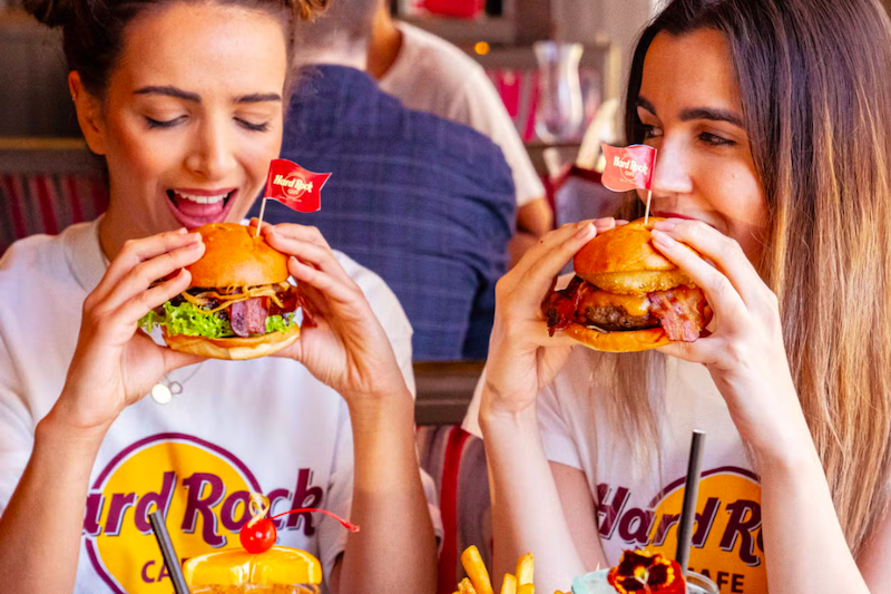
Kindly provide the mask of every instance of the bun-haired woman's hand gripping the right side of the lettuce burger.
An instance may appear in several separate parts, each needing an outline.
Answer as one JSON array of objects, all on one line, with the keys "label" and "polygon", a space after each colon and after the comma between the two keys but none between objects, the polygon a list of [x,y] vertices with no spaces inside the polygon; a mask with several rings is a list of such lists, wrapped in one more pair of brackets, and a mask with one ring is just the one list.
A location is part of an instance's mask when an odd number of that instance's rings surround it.
[{"label": "bun-haired woman's hand gripping the right side of the lettuce burger", "polygon": [[300,340],[276,356],[300,361],[347,402],[407,392],[386,333],[319,230],[264,224],[262,233],[271,246],[291,256],[288,272],[315,322],[314,327],[304,324]]}]

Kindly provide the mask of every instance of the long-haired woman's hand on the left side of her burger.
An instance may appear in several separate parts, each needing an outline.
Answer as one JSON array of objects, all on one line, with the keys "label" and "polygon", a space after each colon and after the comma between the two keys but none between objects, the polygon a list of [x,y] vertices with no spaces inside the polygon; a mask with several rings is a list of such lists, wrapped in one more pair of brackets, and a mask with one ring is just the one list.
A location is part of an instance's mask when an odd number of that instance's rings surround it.
[{"label": "long-haired woman's hand on the left side of her burger", "polygon": [[562,368],[578,342],[548,335],[541,302],[582,245],[616,226],[613,218],[571,223],[545,235],[496,285],[496,312],[481,417],[518,413]]}]

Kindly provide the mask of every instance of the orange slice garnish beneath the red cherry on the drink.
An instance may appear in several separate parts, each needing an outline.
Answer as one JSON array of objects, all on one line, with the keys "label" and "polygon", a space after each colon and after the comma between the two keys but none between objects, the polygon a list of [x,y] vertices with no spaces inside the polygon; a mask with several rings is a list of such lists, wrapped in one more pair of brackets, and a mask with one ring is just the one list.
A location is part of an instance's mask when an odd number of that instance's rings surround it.
[{"label": "orange slice garnish beneath the red cherry on the drink", "polygon": [[187,561],[183,574],[192,594],[319,594],[322,583],[317,558],[284,546],[208,553]]}]

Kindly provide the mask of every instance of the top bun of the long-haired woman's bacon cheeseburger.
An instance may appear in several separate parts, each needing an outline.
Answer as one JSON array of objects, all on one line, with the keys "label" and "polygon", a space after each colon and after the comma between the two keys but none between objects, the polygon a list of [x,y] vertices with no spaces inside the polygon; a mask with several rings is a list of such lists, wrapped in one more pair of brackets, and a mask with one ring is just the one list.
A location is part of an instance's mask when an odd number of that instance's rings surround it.
[{"label": "top bun of the long-haired woman's bacon cheeseburger", "polygon": [[604,291],[621,295],[693,284],[653,246],[650,231],[657,221],[664,218],[650,216],[646,225],[638,218],[597,235],[572,260],[576,274]]}]

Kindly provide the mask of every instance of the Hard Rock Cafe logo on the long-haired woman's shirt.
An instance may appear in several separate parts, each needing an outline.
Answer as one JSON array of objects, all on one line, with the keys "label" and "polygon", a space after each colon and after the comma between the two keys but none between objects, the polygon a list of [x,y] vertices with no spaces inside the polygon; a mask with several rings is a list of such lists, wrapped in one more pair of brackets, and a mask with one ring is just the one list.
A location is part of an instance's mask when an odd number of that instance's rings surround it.
[{"label": "Hard Rock Cafe logo on the long-haired woman's shirt", "polygon": [[[674,558],[677,522],[684,504],[684,479],[668,485],[647,508],[629,505],[621,486],[597,486],[603,538],[623,548],[646,548]],[[757,477],[735,467],[703,473],[689,568],[706,575],[722,594],[767,592],[761,534],[761,487]]]}]

